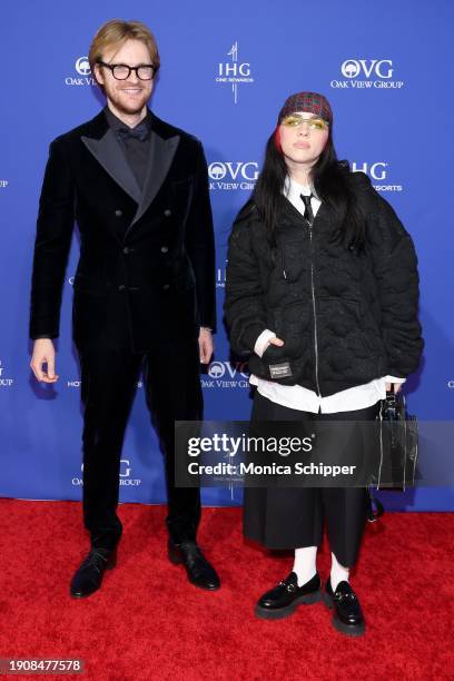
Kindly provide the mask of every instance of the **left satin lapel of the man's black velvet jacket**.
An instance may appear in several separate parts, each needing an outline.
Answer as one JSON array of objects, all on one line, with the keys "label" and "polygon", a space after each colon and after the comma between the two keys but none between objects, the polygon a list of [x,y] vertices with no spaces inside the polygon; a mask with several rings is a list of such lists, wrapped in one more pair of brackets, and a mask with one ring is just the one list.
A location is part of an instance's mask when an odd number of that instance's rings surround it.
[{"label": "left satin lapel of the man's black velvet jacket", "polygon": [[82,142],[110,177],[137,204],[140,204],[142,193],[126,160],[115,131],[109,128],[106,116],[101,112],[91,122],[93,132],[82,136]]}]

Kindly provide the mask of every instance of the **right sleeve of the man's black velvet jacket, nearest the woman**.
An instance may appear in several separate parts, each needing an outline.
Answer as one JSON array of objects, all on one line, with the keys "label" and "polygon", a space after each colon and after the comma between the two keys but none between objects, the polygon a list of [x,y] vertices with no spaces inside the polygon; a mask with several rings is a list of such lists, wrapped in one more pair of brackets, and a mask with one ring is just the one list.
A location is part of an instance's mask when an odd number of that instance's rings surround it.
[{"label": "right sleeve of the man's black velvet jacket, nearest the woman", "polygon": [[215,236],[207,161],[200,142],[193,200],[189,209],[185,246],[196,277],[200,326],[216,330]]}]

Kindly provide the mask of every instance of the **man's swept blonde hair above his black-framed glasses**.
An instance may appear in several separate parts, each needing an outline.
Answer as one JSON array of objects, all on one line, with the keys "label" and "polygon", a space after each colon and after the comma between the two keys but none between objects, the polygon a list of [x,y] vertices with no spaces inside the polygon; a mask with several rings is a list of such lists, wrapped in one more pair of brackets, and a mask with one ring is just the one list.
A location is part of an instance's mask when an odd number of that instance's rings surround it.
[{"label": "man's swept blonde hair above his black-framed glasses", "polygon": [[115,46],[120,48],[127,40],[144,42],[150,53],[156,75],[160,66],[160,59],[155,36],[141,21],[125,21],[124,19],[111,19],[103,23],[96,33],[88,52],[91,72],[95,73],[95,65],[103,60],[106,50]]}]

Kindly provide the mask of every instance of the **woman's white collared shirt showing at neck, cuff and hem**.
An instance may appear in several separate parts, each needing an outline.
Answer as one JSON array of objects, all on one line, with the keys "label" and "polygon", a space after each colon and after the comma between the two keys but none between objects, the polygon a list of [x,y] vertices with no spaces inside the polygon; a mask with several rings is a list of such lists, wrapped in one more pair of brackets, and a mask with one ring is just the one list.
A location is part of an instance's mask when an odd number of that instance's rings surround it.
[{"label": "woman's white collared shirt showing at neck, cuff and hem", "polygon": [[[322,201],[315,195],[314,187],[309,185],[299,185],[294,179],[287,177],[284,186],[284,195],[295,206],[295,208],[304,215],[304,203],[300,195],[314,195],[310,199],[310,206],[314,217],[317,215]],[[276,334],[270,329],[265,329],[257,338],[255,344],[255,353],[261,357],[270,338],[275,338]],[[300,409],[303,412],[312,412],[317,414],[320,409],[323,414],[334,414],[336,412],[352,412],[355,409],[365,409],[372,406],[378,399],[386,397],[386,383],[404,383],[405,378],[396,378],[395,376],[383,376],[374,378],[369,383],[356,385],[355,387],[340,391],[328,397],[320,397],[314,391],[303,387],[302,385],[280,385],[274,381],[259,378],[254,374],[250,375],[249,383],[256,385],[258,392],[264,397],[272,402],[276,402],[290,409]]]}]

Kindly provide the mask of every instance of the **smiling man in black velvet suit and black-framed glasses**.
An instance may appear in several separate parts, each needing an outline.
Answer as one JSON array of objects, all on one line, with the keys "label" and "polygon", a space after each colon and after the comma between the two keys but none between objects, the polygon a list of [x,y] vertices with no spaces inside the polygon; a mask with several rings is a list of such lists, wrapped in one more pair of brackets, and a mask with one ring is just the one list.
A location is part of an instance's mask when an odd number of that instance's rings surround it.
[{"label": "smiling man in black velvet suit and black-framed glasses", "polygon": [[174,422],[201,420],[200,362],[215,330],[215,253],[200,142],[147,108],[159,55],[140,22],[114,20],[90,47],[107,107],[50,146],[34,245],[31,367],[55,383],[61,290],[75,220],[73,338],[81,365],[83,521],[91,550],[71,595],[99,589],[116,563],[119,464],[135,387],[165,454],[168,552],[203,589],[219,580],[196,543],[199,491],[175,486]]}]

